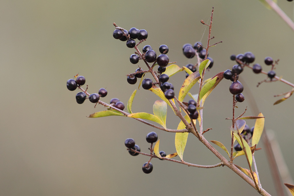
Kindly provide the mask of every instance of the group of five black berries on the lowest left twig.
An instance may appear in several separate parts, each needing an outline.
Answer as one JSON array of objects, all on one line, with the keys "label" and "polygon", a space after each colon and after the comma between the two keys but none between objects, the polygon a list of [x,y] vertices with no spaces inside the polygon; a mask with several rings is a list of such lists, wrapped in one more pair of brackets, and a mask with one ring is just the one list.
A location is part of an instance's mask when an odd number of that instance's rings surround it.
[{"label": "group of five black berries on the lowest left twig", "polygon": [[[148,143],[151,143],[151,146],[154,142],[156,142],[158,139],[158,136],[155,132],[150,132],[147,134],[146,136],[146,141]],[[132,149],[132,150],[136,150],[138,152],[141,152],[141,149],[138,145],[135,145],[135,141],[131,138],[128,138],[125,140],[125,146],[128,148],[128,149]],[[137,156],[139,153],[136,153],[136,152],[133,152],[132,150],[128,150],[128,152],[130,153],[130,155],[132,156]],[[161,157],[165,157],[166,156],[166,153],[164,151],[160,151],[159,154],[161,155]],[[149,162],[146,162],[143,164],[142,166],[142,170],[144,173],[146,174],[149,174],[152,172],[153,170],[153,165]]]}]

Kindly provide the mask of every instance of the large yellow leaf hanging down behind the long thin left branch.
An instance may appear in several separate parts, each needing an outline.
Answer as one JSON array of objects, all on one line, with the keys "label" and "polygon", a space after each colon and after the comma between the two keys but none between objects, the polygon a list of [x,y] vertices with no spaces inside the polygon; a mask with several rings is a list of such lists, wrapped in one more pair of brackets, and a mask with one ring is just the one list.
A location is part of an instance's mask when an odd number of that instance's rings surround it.
[{"label": "large yellow leaf hanging down behind the long thin left branch", "polygon": [[[186,115],[184,118],[188,121],[188,123],[191,122],[189,116]],[[181,121],[177,129],[184,129],[184,128],[186,128],[186,125],[183,123],[183,121]],[[182,161],[183,161],[183,154],[186,147],[187,139],[188,139],[188,133],[176,133],[176,137],[175,137],[176,151]]]}]

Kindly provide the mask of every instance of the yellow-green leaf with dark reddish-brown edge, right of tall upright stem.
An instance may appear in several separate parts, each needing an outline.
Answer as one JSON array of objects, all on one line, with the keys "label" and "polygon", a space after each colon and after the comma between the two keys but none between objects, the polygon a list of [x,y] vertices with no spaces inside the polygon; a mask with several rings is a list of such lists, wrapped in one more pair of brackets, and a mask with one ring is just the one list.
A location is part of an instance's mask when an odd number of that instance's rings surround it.
[{"label": "yellow-green leaf with dark reddish-brown edge, right of tall upright stem", "polygon": [[206,98],[209,96],[209,94],[211,93],[211,91],[216,88],[216,86],[218,85],[218,83],[220,83],[220,81],[223,79],[223,72],[220,72],[218,74],[216,74],[216,76],[214,76],[213,78],[211,78],[210,81],[208,81],[205,85],[203,85],[200,94],[199,94],[199,100],[202,99],[202,105],[204,105],[204,102],[206,100]]}]

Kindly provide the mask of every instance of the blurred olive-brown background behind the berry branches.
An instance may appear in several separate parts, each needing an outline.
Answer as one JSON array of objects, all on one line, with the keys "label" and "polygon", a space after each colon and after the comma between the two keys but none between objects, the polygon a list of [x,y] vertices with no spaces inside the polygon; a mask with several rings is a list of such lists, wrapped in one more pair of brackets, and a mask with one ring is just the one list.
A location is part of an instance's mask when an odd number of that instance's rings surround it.
[{"label": "blurred olive-brown background behind the berry branches", "polygon": [[[293,2],[280,0],[280,7],[293,19]],[[160,150],[174,153],[174,134],[155,130],[131,118],[86,118],[104,110],[89,101],[79,105],[66,81],[79,73],[86,78],[88,92],[106,88],[101,98],[109,103],[119,98],[126,104],[138,85],[129,85],[126,74],[137,68],[129,62],[134,49],[112,36],[113,22],[125,29],[148,31],[149,44],[158,52],[169,47],[170,61],[179,66],[195,63],[183,56],[182,46],[206,42],[213,15],[212,42],[223,41],[209,50],[214,65],[207,77],[230,69],[231,54],[251,51],[256,63],[265,56],[280,59],[276,73],[293,81],[294,33],[274,11],[257,0],[248,1],[1,1],[0,2],[0,195],[259,195],[226,167],[202,169],[168,161],[152,160],[153,172],[141,170],[148,157],[132,157],[124,140],[133,138],[148,152],[146,134],[156,131]],[[141,61],[140,61],[141,62]],[[139,63],[143,67],[143,63]],[[147,76],[146,76],[147,77]],[[149,76],[148,76],[149,77]],[[285,161],[294,176],[293,98],[273,106],[273,95],[291,90],[283,83],[256,84],[265,78],[245,69],[240,81],[246,85],[240,114],[255,100],[274,131]],[[170,78],[178,91],[185,73]],[[206,100],[204,129],[208,140],[229,148],[232,96],[230,82],[222,81]],[[253,93],[251,97],[248,89]],[[194,92],[198,92],[194,88]],[[153,93],[137,92],[133,112],[152,113],[157,100]],[[187,98],[188,99],[188,98]],[[248,108],[246,115],[257,115]],[[179,121],[168,109],[168,128]],[[251,126],[254,121],[247,121]],[[261,148],[263,144],[260,143]],[[224,151],[216,148],[225,155]],[[276,195],[265,151],[255,153],[263,188]],[[178,158],[176,158],[178,159]],[[211,165],[219,160],[197,138],[190,135],[184,153],[190,163]],[[245,158],[234,161],[247,167]]]}]

